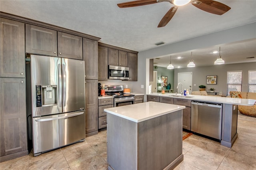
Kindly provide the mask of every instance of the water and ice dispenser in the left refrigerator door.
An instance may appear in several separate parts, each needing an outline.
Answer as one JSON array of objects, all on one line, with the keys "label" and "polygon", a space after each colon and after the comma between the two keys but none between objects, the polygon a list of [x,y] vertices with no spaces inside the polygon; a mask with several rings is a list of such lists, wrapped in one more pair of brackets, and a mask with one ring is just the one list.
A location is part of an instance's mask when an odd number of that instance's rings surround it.
[{"label": "water and ice dispenser in the left refrigerator door", "polygon": [[57,85],[36,85],[36,107],[57,105]]}]

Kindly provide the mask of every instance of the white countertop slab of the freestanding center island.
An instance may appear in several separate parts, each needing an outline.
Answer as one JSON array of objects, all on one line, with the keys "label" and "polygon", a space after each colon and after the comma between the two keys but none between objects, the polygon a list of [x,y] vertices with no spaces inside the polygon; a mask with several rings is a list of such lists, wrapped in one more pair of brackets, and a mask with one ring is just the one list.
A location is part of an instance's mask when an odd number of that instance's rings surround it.
[{"label": "white countertop slab of the freestanding center island", "polygon": [[134,105],[112,107],[104,109],[104,111],[122,117],[124,119],[128,119],[130,121],[139,123],[142,121],[146,121],[148,119],[159,117],[161,115],[166,115],[168,113],[179,111],[185,108],[185,106],[150,101]]}]

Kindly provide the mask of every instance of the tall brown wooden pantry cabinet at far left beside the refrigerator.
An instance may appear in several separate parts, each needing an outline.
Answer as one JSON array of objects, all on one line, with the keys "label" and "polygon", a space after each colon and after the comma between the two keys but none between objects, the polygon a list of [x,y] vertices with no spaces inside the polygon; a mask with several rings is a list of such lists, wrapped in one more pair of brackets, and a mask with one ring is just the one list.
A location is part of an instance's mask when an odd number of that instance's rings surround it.
[{"label": "tall brown wooden pantry cabinet at far left beside the refrigerator", "polygon": [[1,19],[0,162],[28,154],[25,25]]}]

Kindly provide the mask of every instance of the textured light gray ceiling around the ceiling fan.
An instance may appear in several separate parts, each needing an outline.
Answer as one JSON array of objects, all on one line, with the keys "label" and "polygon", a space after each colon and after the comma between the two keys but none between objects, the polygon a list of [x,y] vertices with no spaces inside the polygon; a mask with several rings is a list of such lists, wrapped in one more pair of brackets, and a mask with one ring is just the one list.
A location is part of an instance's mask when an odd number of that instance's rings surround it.
[{"label": "textured light gray ceiling around the ceiling fan", "polygon": [[[0,10],[97,36],[101,38],[99,42],[102,43],[134,51],[144,51],[157,47],[155,45],[157,42],[170,44],[256,22],[256,0],[218,1],[230,6],[231,10],[218,16],[187,4],[180,6],[172,20],[163,28],[157,28],[157,26],[164,14],[173,6],[169,2],[133,8],[118,8],[116,4],[127,1],[0,0]],[[240,43],[240,45],[242,44]],[[248,45],[246,43],[244,48],[247,48]],[[255,45],[255,40],[250,43],[249,47],[251,48],[253,45]],[[218,51],[218,47],[213,48]],[[230,47],[230,49],[232,48],[234,49],[234,47]],[[210,50],[212,50],[211,47],[201,51],[209,53]],[[230,51],[226,54],[228,55],[228,53]],[[196,51],[194,54],[196,57]],[[225,52],[221,53],[223,58],[226,54]],[[186,51],[184,55],[190,56],[190,51]],[[255,56],[255,50],[251,50],[248,55]],[[218,54],[215,56],[218,57]],[[237,55],[237,58],[239,57],[241,55]],[[170,57],[168,57],[168,63],[169,59]],[[194,60],[196,61],[196,58]]]}]

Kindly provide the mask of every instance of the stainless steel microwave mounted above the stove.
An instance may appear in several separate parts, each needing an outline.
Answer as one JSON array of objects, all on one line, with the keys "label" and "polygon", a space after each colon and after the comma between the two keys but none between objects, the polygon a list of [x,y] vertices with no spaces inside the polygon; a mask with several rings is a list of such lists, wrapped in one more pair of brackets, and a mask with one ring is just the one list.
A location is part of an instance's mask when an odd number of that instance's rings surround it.
[{"label": "stainless steel microwave mounted above the stove", "polygon": [[108,79],[129,79],[129,67],[108,65]]}]

